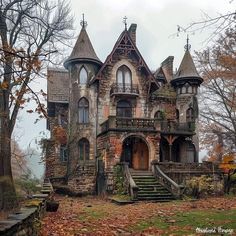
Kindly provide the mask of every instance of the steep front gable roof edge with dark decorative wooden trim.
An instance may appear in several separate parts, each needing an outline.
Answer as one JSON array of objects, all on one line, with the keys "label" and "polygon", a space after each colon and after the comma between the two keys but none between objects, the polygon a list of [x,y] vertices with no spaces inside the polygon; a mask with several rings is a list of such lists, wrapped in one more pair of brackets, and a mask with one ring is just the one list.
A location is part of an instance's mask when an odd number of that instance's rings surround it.
[{"label": "steep front gable roof edge with dark decorative wooden trim", "polygon": [[[138,67],[141,69],[143,68],[147,74],[149,75],[150,78],[150,83],[154,82],[155,84],[157,84],[157,82],[155,81],[154,75],[152,74],[152,72],[150,71],[150,69],[148,68],[146,62],[144,61],[141,53],[139,52],[138,48],[136,47],[135,43],[133,42],[133,40],[130,37],[129,32],[127,31],[127,29],[125,29],[121,35],[119,36],[118,40],[116,41],[111,53],[107,56],[103,66],[100,68],[100,70],[98,71],[97,75],[95,76],[95,78],[91,81],[91,83],[93,83],[96,80],[99,80],[102,77],[102,72],[104,70],[104,68],[111,64],[113,61],[113,56],[115,54],[115,52],[117,50],[123,51],[125,54],[129,54],[130,52],[135,52],[137,59],[138,59]],[[159,86],[157,84],[157,86]]]}]

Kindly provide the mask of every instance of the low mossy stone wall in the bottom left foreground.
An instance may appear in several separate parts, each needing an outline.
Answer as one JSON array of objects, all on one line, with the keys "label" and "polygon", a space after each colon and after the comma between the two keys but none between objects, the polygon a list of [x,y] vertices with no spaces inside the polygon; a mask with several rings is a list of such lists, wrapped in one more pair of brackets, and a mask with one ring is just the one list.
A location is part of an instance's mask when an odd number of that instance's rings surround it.
[{"label": "low mossy stone wall in the bottom left foreground", "polygon": [[41,218],[46,211],[47,200],[52,191],[52,185],[49,182],[44,183],[41,194],[32,195],[32,199],[27,200],[21,209],[0,221],[0,235],[39,235]]}]

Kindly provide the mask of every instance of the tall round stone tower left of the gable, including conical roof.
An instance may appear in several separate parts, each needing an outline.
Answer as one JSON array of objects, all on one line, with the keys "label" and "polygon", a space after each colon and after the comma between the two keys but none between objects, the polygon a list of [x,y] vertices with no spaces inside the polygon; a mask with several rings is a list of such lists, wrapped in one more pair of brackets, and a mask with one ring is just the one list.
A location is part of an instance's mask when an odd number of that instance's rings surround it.
[{"label": "tall round stone tower left of the gable, including conical roof", "polygon": [[102,62],[82,29],[70,57],[64,62],[69,72],[68,185],[75,192],[95,191],[97,135],[97,84],[90,84]]}]

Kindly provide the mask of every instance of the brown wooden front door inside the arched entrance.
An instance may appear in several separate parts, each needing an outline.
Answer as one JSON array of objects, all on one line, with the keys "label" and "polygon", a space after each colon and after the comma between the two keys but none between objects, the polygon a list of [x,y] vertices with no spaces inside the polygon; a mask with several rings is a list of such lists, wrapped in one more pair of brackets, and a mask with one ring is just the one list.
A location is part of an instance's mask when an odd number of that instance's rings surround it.
[{"label": "brown wooden front door inside the arched entrance", "polygon": [[132,167],[135,170],[148,169],[148,147],[143,141],[133,144]]}]

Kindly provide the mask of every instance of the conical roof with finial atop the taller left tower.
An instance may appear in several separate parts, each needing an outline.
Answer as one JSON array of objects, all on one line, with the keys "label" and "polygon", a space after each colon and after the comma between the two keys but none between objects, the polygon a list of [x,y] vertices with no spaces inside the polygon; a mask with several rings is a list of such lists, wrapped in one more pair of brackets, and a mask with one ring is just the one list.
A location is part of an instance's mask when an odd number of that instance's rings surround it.
[{"label": "conical roof with finial atop the taller left tower", "polygon": [[75,43],[72,53],[70,54],[69,58],[67,58],[64,62],[64,66],[66,68],[68,68],[68,65],[71,62],[77,61],[89,61],[97,64],[102,64],[100,59],[97,57],[93,45],[86,32],[87,22],[84,20],[84,14],[80,25],[82,26],[82,29],[80,31],[79,37]]}]

